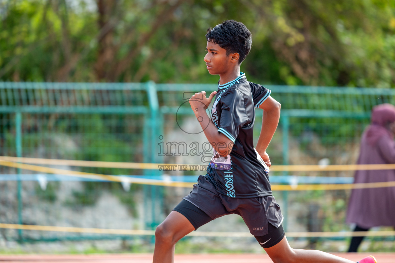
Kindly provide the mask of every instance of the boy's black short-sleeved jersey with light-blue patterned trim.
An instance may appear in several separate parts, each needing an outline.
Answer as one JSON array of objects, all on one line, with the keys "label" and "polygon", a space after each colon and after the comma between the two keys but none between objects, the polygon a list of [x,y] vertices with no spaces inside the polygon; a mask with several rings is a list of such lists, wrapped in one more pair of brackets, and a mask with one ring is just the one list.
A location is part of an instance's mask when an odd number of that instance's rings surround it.
[{"label": "boy's black short-sleeved jersey with light-blue patterned trim", "polygon": [[219,85],[211,109],[211,121],[233,142],[231,153],[219,157],[214,152],[207,168],[207,179],[220,194],[233,198],[272,195],[269,177],[254,149],[255,109],[271,91],[248,82],[244,73]]}]

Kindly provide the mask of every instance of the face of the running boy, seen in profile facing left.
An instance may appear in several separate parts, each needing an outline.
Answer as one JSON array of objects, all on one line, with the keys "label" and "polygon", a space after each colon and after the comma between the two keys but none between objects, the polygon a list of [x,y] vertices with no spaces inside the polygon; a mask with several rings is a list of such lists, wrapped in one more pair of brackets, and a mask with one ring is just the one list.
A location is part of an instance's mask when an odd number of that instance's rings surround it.
[{"label": "face of the running boy, seen in profile facing left", "polygon": [[207,65],[207,70],[211,75],[221,75],[227,73],[237,65],[239,53],[226,55],[226,50],[218,44],[207,41],[207,54],[204,61]]}]

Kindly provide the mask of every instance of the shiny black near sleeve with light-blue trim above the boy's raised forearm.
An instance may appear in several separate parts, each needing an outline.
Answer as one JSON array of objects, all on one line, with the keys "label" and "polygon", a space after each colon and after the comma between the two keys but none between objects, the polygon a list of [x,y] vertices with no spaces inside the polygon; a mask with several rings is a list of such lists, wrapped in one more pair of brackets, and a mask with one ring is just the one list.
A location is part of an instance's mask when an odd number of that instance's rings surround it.
[{"label": "shiny black near sleeve with light-blue trim above the boy's raised forearm", "polygon": [[237,89],[227,91],[221,98],[221,115],[218,132],[232,142],[239,136],[239,129],[248,122],[244,95]]}]

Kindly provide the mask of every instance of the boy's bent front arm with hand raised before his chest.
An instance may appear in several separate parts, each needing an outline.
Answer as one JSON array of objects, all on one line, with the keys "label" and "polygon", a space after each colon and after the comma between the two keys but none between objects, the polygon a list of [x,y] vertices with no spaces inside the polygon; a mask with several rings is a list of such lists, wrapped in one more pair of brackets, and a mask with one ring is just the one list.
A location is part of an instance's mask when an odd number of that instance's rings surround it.
[{"label": "boy's bent front arm with hand raised before his chest", "polygon": [[216,93],[216,91],[213,91],[208,98],[206,98],[205,91],[195,93],[195,95],[189,99],[189,103],[191,104],[196,118],[198,118],[207,140],[213,145],[213,148],[220,156],[225,157],[232,151],[233,142],[223,133],[218,132],[218,128],[215,127],[206,113],[206,108],[209,106]]}]

